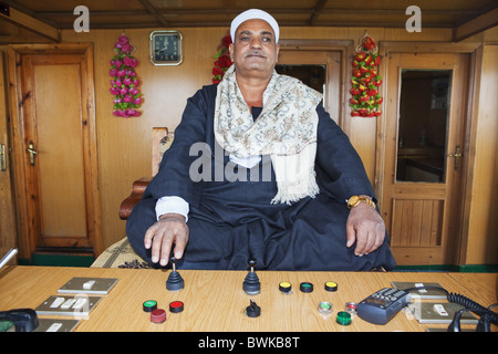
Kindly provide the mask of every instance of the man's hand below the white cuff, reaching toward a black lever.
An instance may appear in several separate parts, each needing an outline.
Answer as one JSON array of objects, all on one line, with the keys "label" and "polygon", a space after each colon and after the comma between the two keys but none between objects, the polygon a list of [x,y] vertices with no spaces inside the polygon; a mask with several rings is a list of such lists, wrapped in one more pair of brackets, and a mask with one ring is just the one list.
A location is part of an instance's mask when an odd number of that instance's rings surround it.
[{"label": "man's hand below the white cuff, reaching toward a black lever", "polygon": [[152,261],[166,266],[169,260],[172,246],[175,243],[175,258],[184,256],[188,242],[188,227],[185,217],[179,214],[164,214],[159,220],[145,232],[144,244],[152,247]]}]

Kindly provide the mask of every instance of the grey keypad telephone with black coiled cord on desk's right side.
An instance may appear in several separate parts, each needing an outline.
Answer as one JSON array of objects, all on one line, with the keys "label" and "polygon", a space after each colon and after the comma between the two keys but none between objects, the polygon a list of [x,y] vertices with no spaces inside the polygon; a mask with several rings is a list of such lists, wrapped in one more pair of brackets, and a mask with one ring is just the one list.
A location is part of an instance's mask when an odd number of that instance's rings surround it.
[{"label": "grey keypad telephone with black coiled cord on desk's right side", "polygon": [[400,310],[412,301],[409,292],[421,289],[443,291],[446,293],[449,302],[455,302],[464,306],[464,309],[455,313],[448,326],[448,332],[460,332],[460,317],[466,311],[470,311],[480,316],[476,332],[490,332],[491,323],[498,325],[498,313],[491,311],[498,303],[485,308],[461,294],[450,293],[444,288],[438,287],[417,287],[404,290],[384,288],[362,300],[356,306],[356,313],[360,319],[366,322],[386,324]]}]

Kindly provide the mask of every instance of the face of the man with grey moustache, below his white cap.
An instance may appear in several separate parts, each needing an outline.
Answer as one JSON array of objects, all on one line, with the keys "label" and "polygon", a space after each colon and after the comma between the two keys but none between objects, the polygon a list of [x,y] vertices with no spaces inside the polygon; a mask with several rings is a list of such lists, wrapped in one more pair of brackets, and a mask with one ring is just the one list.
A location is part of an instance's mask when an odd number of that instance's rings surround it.
[{"label": "face of the man with grey moustache, below his white cap", "polygon": [[253,77],[268,77],[273,73],[280,46],[273,29],[263,20],[242,22],[230,44],[230,59],[236,71]]}]

